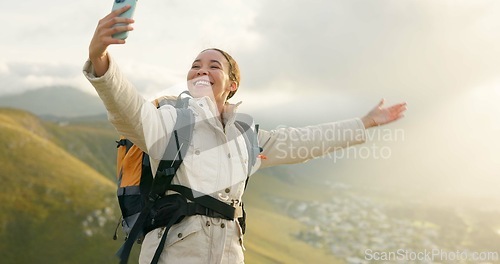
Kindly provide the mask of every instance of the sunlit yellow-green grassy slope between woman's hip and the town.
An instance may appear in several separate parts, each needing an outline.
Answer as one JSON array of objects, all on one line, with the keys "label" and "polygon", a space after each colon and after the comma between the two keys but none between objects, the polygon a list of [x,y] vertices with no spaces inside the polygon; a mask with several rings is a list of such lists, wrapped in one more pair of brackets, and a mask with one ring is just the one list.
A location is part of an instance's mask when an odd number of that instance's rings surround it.
[{"label": "sunlit yellow-green grassy slope between woman's hip and the town", "polygon": [[271,197],[290,200],[324,200],[325,195],[307,188],[297,188],[264,170],[253,176],[245,192],[247,233],[245,234],[246,263],[343,263],[323,249],[297,240],[293,234],[307,228],[284,214],[271,202]]}]

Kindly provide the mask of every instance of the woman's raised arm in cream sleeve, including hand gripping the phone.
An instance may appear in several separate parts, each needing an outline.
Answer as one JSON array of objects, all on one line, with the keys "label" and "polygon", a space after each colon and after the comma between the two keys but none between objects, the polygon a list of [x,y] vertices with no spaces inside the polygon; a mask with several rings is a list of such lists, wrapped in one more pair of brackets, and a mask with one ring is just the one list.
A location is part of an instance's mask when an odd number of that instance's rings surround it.
[{"label": "woman's raised arm in cream sleeve, including hand gripping the phone", "polygon": [[128,8],[112,11],[99,21],[89,45],[89,60],[84,65],[83,73],[96,89],[117,132],[147,152],[155,169],[157,160],[163,156],[177,115],[173,107],[157,109],[145,100],[107,52],[109,45],[125,43],[112,35],[131,30],[129,25],[113,27],[116,23],[133,22],[118,17]]}]

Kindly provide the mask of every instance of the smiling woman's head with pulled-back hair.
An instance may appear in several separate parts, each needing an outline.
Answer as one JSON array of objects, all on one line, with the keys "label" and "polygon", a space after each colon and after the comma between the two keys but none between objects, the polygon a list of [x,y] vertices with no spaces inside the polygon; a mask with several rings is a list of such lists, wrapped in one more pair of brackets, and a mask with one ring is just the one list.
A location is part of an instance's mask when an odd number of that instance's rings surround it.
[{"label": "smiling woman's head with pulled-back hair", "polygon": [[193,97],[209,96],[216,103],[224,103],[236,88],[229,79],[229,62],[216,50],[205,50],[193,61],[187,74],[188,89]]}]

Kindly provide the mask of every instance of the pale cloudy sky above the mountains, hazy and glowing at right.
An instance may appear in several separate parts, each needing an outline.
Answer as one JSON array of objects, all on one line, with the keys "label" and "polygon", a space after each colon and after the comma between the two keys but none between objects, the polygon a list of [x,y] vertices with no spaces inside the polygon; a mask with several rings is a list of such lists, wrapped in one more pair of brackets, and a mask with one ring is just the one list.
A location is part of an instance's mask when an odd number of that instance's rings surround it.
[{"label": "pale cloudy sky above the mountains, hazy and glowing at right", "polygon": [[[4,3],[0,95],[49,85],[95,94],[81,68],[111,6]],[[407,102],[406,117],[387,126],[405,140],[379,142],[392,156],[368,167],[474,195],[500,184],[498,14],[496,0],[146,0],[127,44],[109,51],[154,97],[185,85],[199,51],[222,48],[242,71],[233,102],[269,126],[360,117],[381,98]]]}]

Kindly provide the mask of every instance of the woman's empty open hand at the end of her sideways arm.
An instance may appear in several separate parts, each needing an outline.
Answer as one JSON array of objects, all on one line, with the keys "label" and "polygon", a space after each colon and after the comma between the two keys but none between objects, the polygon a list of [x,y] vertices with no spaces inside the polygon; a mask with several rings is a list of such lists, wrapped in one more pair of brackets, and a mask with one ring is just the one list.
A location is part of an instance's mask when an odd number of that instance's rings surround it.
[{"label": "woman's empty open hand at the end of her sideways arm", "polygon": [[384,104],[384,99],[373,108],[366,116],[361,118],[365,128],[370,128],[374,126],[381,126],[391,122],[394,122],[402,117],[404,117],[404,111],[406,108],[406,103],[395,104],[390,107],[382,108]]}]

